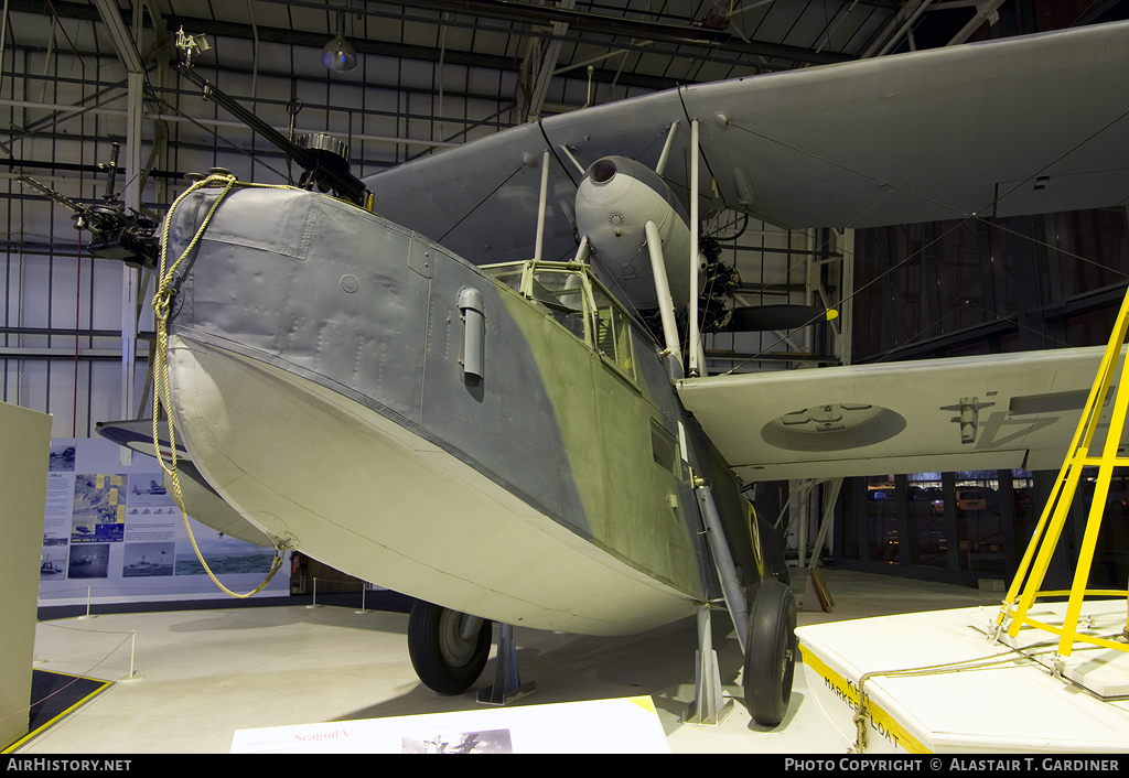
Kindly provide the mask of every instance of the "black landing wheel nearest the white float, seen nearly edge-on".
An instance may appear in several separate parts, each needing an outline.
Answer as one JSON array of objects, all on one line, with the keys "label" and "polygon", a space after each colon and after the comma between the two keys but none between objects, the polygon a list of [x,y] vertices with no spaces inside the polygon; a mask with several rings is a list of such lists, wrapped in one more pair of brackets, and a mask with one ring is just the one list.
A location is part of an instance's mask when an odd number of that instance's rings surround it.
[{"label": "black landing wheel nearest the white float, seen nearly edge-on", "polygon": [[765,580],[749,609],[745,640],[745,707],[758,724],[774,727],[788,713],[796,649],[796,595]]}]

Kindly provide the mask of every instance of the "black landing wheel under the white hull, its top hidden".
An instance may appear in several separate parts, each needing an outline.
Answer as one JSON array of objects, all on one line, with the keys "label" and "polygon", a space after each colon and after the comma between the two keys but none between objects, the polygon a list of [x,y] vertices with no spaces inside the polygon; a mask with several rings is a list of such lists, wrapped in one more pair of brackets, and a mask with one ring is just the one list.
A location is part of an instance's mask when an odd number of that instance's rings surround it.
[{"label": "black landing wheel under the white hull, its top hidden", "polygon": [[462,694],[487,665],[491,633],[485,619],[417,600],[408,617],[408,655],[428,689]]}]

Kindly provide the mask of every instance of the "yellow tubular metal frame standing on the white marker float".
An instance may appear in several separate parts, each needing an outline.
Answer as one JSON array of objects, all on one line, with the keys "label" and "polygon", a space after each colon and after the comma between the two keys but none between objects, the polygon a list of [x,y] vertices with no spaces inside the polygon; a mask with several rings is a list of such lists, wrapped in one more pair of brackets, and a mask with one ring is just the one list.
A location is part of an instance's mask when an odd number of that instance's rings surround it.
[{"label": "yellow tubular metal frame standing on the white marker float", "polygon": [[[1113,414],[1110,418],[1109,431],[1105,445],[1099,456],[1091,456],[1089,449],[1097,431],[1102,408],[1105,405],[1110,386],[1113,384],[1113,376],[1117,373],[1118,361],[1121,356],[1121,347],[1126,342],[1126,334],[1129,332],[1129,294],[1121,304],[1121,312],[1118,314],[1117,323],[1113,325],[1113,334],[1110,336],[1105,355],[1102,357],[1102,365],[1097,370],[1097,377],[1089,390],[1089,397],[1083,410],[1078,428],[1075,430],[1074,439],[1067,449],[1066,462],[1059,471],[1054,490],[1050,499],[1043,507],[1043,513],[1035,526],[1035,532],[1031,536],[1027,550],[1019,562],[1015,579],[1008,589],[1004,606],[996,619],[997,627],[1003,627],[1005,620],[1010,617],[1007,632],[1012,637],[1019,633],[1019,629],[1027,624],[1045,630],[1059,636],[1058,653],[1060,656],[1069,656],[1075,641],[1088,642],[1105,648],[1115,648],[1129,652],[1129,644],[1114,642],[1105,638],[1088,635],[1078,635],[1078,615],[1082,611],[1082,602],[1086,595],[1114,595],[1126,597],[1129,603],[1129,591],[1124,589],[1087,589],[1086,582],[1089,580],[1089,568],[1094,560],[1094,548],[1097,545],[1097,533],[1102,526],[1102,514],[1105,510],[1105,499],[1109,496],[1110,479],[1113,469],[1129,465],[1129,457],[1119,457],[1118,444],[1121,442],[1121,432],[1124,429],[1126,412],[1129,410],[1129,391],[1115,391],[1113,402]],[[1122,375],[1122,383],[1126,376]],[[1086,466],[1097,466],[1097,482],[1094,486],[1094,497],[1089,506],[1089,516],[1086,519],[1086,532],[1083,536],[1082,549],[1078,552],[1078,565],[1075,569],[1074,582],[1069,592],[1040,592],[1047,568],[1050,566],[1054,548],[1058,545],[1059,536],[1062,534],[1062,526],[1077,491],[1078,482],[1082,480],[1082,469]],[[1030,574],[1030,575],[1029,575]],[[1022,587],[1022,588],[1021,588]],[[1061,627],[1048,624],[1043,621],[1032,619],[1027,615],[1032,603],[1038,597],[1069,595],[1067,602],[1066,618]],[[1129,624],[1127,624],[1129,635]]]}]

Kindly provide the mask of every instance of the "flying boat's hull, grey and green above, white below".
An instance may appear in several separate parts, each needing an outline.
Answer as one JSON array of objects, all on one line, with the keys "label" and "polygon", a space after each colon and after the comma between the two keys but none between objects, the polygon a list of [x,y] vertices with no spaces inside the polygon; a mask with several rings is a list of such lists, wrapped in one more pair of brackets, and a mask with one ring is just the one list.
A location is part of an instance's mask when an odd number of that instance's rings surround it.
[{"label": "flying boat's hull, grey and green above, white below", "polygon": [[[178,209],[172,256],[213,196]],[[204,478],[269,536],[540,629],[634,633],[706,596],[688,469],[657,464],[655,430],[686,443],[715,484],[728,474],[695,454],[700,432],[638,334],[625,381],[465,261],[308,192],[233,193],[180,274],[177,428]],[[467,287],[488,322],[481,379],[461,362]]]}]

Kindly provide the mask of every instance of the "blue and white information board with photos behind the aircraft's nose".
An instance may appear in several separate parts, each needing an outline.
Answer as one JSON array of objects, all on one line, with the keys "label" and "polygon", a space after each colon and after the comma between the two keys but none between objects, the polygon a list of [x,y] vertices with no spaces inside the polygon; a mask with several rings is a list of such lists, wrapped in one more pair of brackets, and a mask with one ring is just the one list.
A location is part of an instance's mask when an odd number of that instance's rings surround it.
[{"label": "blue and white information board with photos behind the aircraft's nose", "polygon": [[[166,493],[156,457],[93,438],[53,438],[40,562],[40,605],[227,597],[208,577],[184,518]],[[189,518],[200,552],[228,588],[250,592],[270,570],[272,549]],[[262,594],[289,594],[277,575]]]}]

